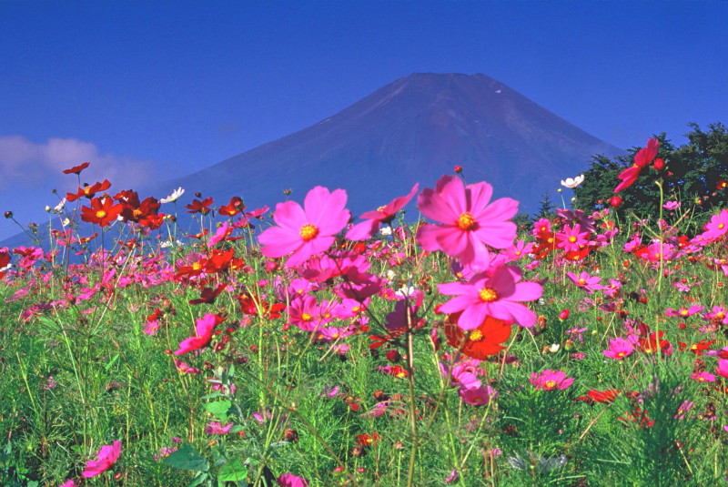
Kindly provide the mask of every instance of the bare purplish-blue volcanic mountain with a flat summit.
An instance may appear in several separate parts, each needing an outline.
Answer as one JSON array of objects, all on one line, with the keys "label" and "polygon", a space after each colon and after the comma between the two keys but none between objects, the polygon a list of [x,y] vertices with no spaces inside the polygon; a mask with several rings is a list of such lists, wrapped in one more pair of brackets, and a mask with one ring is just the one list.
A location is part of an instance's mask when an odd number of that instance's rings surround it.
[{"label": "bare purplish-blue volcanic mountain with a flat summit", "polygon": [[181,186],[218,205],[240,196],[248,208],[275,208],[284,189],[301,202],[314,186],[344,188],[358,216],[460,165],[468,182],[488,181],[495,198],[516,198],[528,212],[595,154],[622,150],[489,76],[417,73],[311,127],[167,182],[165,190]]}]

